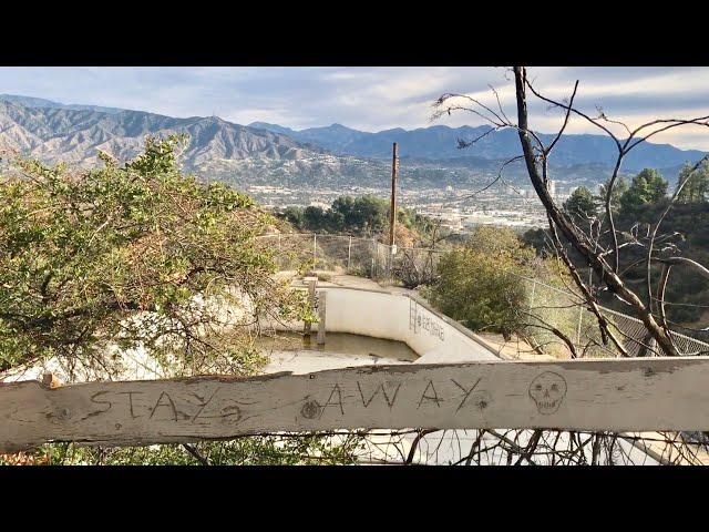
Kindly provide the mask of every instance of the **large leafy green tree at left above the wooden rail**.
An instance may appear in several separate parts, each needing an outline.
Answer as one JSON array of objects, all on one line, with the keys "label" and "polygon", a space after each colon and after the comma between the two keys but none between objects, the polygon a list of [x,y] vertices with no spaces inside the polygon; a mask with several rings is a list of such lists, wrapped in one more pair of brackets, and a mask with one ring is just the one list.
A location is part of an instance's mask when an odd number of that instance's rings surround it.
[{"label": "large leafy green tree at left above the wooden rail", "polygon": [[20,160],[0,180],[0,369],[59,357],[105,375],[119,347],[176,375],[250,374],[263,359],[247,314],[305,315],[255,238],[271,218],[182,174],[178,142],[148,139],[134,161],[102,155],[81,173]]}]

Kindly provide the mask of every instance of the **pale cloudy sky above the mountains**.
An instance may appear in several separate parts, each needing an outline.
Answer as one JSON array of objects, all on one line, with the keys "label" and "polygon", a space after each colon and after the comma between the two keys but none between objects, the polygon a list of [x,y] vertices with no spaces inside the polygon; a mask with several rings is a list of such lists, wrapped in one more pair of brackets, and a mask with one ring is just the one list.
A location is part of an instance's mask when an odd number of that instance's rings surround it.
[{"label": "pale cloudy sky above the mountains", "polygon": [[[530,68],[545,95],[567,98],[579,80],[576,103],[597,115],[639,125],[658,117],[709,115],[709,68]],[[340,123],[362,131],[435,124],[484,123],[460,112],[431,122],[431,104],[445,92],[496,104],[514,116],[514,82],[489,66],[53,66],[0,68],[0,93],[61,103],[113,106],[169,116],[217,115],[238,124],[270,122],[296,130]],[[530,123],[554,133],[558,110],[531,99]],[[620,126],[614,126],[616,129]],[[573,120],[569,133],[597,133]],[[619,130],[618,133],[620,133]],[[679,127],[655,137],[681,149],[709,150],[709,129]]]}]

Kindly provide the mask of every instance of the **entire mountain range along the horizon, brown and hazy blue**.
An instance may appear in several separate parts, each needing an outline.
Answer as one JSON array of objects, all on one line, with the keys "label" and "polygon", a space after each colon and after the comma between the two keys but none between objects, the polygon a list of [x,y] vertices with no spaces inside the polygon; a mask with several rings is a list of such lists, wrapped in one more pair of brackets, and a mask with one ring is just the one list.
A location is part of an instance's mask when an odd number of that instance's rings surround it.
[{"label": "entire mountain range along the horizon, brown and hazy blue", "polygon": [[[341,124],[297,131],[264,122],[239,125],[217,116],[171,117],[0,95],[1,150],[84,166],[96,163],[99,150],[129,160],[141,152],[147,135],[182,132],[189,135],[181,155],[186,170],[236,183],[379,186],[387,182],[392,142],[399,144],[402,170],[407,170],[402,173],[414,186],[475,182],[494,173],[501,161],[520,154],[512,130],[491,132],[474,145],[458,149],[459,139],[474,139],[487,131],[487,126],[434,125],[369,133]],[[582,181],[593,182],[597,175],[600,181],[607,176],[604,170],[614,152],[615,144],[605,136],[566,135],[555,150],[553,164],[562,176],[583,175]],[[670,172],[676,174],[679,165],[701,156],[700,151],[643,143],[627,157],[624,170],[665,168],[666,177],[672,178]]]}]

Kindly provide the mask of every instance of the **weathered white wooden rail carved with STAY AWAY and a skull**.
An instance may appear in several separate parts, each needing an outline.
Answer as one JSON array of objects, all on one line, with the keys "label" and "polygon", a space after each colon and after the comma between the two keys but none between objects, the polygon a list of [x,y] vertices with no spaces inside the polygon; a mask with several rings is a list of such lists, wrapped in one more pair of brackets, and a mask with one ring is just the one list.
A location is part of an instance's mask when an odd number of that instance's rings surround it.
[{"label": "weathered white wooden rail carved with STAY AWAY and a skull", "polygon": [[356,428],[709,429],[709,357],[367,366],[247,379],[0,385],[0,452]]}]

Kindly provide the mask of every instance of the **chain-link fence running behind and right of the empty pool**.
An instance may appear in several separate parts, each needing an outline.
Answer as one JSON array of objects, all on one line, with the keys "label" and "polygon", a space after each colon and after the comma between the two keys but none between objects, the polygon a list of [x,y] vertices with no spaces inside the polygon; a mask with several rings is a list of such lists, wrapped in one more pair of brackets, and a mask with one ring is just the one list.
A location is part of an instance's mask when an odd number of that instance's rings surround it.
[{"label": "chain-link fence running behind and right of the empty pool", "polygon": [[[348,235],[274,234],[258,238],[274,253],[281,270],[325,269],[359,275],[382,283],[394,280],[418,286],[435,276],[443,252],[420,247],[394,246]],[[526,287],[530,327],[545,350],[564,350],[564,342],[549,329],[557,329],[574,344],[582,357],[614,357],[617,349],[604,344],[596,316],[583,297],[538,279],[522,278]],[[644,324],[631,316],[600,307],[616,336],[631,356],[651,356],[656,350]],[[671,332],[678,349],[686,355],[709,355],[709,342]]]}]

